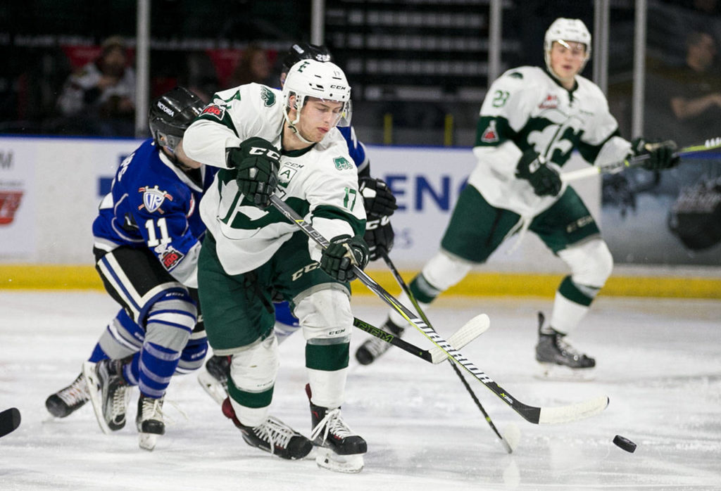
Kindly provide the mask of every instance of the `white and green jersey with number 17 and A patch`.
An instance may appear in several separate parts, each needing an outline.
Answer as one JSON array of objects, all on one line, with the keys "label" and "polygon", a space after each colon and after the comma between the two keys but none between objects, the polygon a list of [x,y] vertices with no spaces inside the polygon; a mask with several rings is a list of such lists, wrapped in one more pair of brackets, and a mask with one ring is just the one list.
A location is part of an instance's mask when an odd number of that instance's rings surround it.
[{"label": "white and green jersey with number 17 and A patch", "polygon": [[[228,274],[252,271],[273,257],[298,232],[275,208],[260,210],[238,191],[236,170],[226,166],[226,148],[260,137],[281,146],[283,107],[280,91],[248,84],[221,91],[185,131],[190,158],[220,167],[200,202],[200,216],[217,243]],[[280,150],[278,194],[325,238],[363,235],[366,211],[358,192],[358,171],[337,128],[304,150]],[[311,258],[321,251],[309,240]]]}]

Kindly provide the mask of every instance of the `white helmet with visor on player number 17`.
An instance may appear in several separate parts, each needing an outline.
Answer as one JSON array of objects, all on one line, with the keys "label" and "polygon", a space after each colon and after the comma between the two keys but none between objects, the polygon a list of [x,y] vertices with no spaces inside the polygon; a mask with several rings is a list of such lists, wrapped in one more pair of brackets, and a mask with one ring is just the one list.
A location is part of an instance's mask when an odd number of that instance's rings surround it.
[{"label": "white helmet with visor on player number 17", "polygon": [[[293,106],[293,109],[296,109],[295,120],[291,120],[288,116],[293,95],[296,96]],[[335,125],[350,125],[350,85],[345,78],[345,73],[335,63],[300,60],[291,66],[283,84],[283,114],[291,128],[295,129],[295,125],[298,124],[301,118],[301,109],[308,97],[316,97],[323,101],[342,102],[343,105]],[[297,130],[296,135],[300,136]]]}]

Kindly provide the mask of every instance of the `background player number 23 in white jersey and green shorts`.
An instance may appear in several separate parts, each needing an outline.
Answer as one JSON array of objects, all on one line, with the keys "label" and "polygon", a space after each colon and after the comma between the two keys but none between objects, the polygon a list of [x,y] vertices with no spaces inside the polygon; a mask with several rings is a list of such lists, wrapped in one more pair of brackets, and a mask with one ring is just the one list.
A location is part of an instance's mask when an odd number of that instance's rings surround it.
[{"label": "background player number 23 in white jersey and green shorts", "polygon": [[[580,76],[590,57],[590,33],[578,19],[556,19],[544,40],[545,68],[523,66],[503,73],[482,104],[469,176],[441,241],[441,251],[410,288],[422,305],[484,263],[503,241],[530,230],[570,268],[557,289],[550,323],[539,313],[536,360],[544,369],[588,374],[596,361],[563,340],[583,319],[611,274],[613,259],[596,222],[559,168],[578,150],[588,163],[623,161],[647,153],[647,169],[678,163],[676,144],[629,143],[619,136],[601,89]],[[518,238],[520,240],[521,237]],[[401,295],[402,301],[407,297]],[[392,311],[386,328],[402,333]],[[387,344],[368,340],[356,352],[369,364]]]}]

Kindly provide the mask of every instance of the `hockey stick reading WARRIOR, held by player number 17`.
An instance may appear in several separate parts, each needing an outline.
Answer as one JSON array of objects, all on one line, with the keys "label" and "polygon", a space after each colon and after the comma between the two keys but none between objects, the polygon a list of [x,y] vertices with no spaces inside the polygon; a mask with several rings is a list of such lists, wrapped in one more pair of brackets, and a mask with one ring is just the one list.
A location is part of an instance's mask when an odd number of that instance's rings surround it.
[{"label": "hockey stick reading WARRIOR, held by player number 17", "polygon": [[[324,238],[317,230],[315,230],[308,222],[306,222],[298,213],[293,210],[286,202],[283,202],[278,196],[273,194],[270,197],[270,202],[273,204],[276,210],[278,210],[288,220],[295,223],[298,228],[314,240],[322,248],[327,248],[329,242]],[[609,397],[603,395],[593,397],[593,399],[586,400],[583,402],[577,402],[575,404],[561,406],[561,407],[534,407],[523,404],[523,402],[514,399],[503,387],[500,387],[492,378],[481,371],[475,366],[472,361],[466,359],[460,351],[456,350],[451,343],[448,343],[445,339],[441,338],[441,335],[435,332],[433,328],[429,328],[426,323],[423,322],[417,315],[408,310],[407,307],[402,305],[397,299],[392,297],[391,294],[381,287],[375,280],[368,276],[358,266],[353,266],[358,279],[368,287],[373,293],[378,295],[386,304],[396,310],[402,317],[413,325],[417,330],[425,335],[435,346],[441,348],[441,350],[448,356],[453,358],[456,363],[461,365],[469,374],[477,379],[479,382],[484,384],[491,392],[500,397],[503,402],[509,405],[513,410],[521,415],[521,418],[534,424],[539,423],[567,423],[569,421],[580,420],[588,418],[590,416],[601,413],[606,406],[609,405]]]}]

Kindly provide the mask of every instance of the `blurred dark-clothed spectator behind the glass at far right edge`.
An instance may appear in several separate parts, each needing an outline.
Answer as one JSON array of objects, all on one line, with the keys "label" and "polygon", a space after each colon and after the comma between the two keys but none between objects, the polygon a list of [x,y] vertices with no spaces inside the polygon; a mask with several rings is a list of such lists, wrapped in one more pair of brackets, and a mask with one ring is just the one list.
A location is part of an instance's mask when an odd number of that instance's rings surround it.
[{"label": "blurred dark-clothed spectator behind the glass at far right edge", "polygon": [[[686,37],[686,63],[674,73],[669,104],[678,122],[679,143],[688,144],[712,135],[721,122],[721,76],[714,64],[717,45],[707,32]],[[687,136],[686,136],[687,135]]]}]

